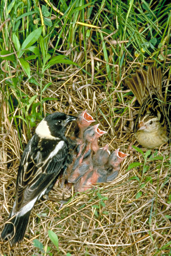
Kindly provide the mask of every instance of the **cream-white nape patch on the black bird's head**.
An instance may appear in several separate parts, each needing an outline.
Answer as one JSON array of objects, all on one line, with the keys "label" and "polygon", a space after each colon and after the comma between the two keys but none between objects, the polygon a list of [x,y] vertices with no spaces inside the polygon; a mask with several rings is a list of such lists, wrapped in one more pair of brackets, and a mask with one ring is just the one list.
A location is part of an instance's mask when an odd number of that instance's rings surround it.
[{"label": "cream-white nape patch on the black bird's head", "polygon": [[45,118],[37,125],[36,134],[41,139],[49,139],[49,140],[59,139],[59,138],[56,138],[56,137],[51,135],[51,132],[49,130],[49,126],[47,124],[47,121],[45,121]]}]

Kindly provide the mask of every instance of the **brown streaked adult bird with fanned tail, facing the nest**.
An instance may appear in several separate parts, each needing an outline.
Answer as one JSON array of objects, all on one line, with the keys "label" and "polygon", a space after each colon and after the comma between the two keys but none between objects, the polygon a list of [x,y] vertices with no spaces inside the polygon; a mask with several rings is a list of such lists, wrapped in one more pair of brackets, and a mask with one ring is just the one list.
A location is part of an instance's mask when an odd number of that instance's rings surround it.
[{"label": "brown streaked adult bird with fanned tail, facing the nest", "polygon": [[161,68],[137,70],[126,83],[141,105],[133,129],[137,141],[147,148],[170,143],[171,127],[162,97]]}]

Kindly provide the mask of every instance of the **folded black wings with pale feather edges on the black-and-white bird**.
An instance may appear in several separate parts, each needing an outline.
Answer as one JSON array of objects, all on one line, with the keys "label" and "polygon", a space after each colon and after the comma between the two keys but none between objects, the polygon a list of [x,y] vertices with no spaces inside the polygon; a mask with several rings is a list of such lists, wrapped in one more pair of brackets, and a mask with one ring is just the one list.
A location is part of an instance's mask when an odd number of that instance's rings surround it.
[{"label": "folded black wings with pale feather edges on the black-and-white bird", "polygon": [[[54,181],[65,164],[68,147],[65,141],[59,142],[54,150],[41,161],[41,153],[37,151],[34,158],[31,154],[31,141],[27,145],[18,169],[16,183],[16,211],[45,194],[46,189]],[[36,201],[35,200],[35,201]]]}]

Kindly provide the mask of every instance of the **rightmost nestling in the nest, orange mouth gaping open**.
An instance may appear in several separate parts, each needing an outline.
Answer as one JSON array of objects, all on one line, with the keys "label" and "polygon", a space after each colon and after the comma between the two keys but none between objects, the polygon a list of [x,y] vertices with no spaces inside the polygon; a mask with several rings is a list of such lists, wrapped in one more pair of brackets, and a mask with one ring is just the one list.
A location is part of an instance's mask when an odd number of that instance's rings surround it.
[{"label": "rightmost nestling in the nest, orange mouth gaping open", "polygon": [[127,157],[127,154],[119,151],[119,148],[112,152],[106,164],[106,181],[113,181],[119,174],[120,164]]}]

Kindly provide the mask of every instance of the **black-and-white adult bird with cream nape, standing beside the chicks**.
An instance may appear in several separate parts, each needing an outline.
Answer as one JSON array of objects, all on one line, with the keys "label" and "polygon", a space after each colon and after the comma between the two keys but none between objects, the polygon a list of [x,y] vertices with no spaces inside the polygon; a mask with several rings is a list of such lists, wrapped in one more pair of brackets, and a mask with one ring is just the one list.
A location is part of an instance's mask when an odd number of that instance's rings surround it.
[{"label": "black-and-white adult bird with cream nape, standing beside the chicks", "polygon": [[35,202],[49,193],[62,172],[68,154],[66,125],[74,120],[63,113],[50,114],[28,142],[18,169],[16,199],[1,234],[11,245],[23,240]]}]

